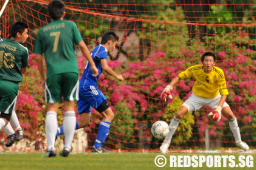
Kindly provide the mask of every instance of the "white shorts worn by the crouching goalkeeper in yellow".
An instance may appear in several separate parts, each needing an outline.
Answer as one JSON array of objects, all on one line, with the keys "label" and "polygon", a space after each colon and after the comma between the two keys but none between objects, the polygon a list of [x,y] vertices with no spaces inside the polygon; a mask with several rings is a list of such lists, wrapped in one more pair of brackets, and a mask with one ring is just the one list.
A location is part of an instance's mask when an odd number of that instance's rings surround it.
[{"label": "white shorts worn by the crouching goalkeeper in yellow", "polygon": [[[188,99],[182,104],[182,106],[187,107],[188,112],[201,109],[204,105],[208,105],[213,109],[214,106],[219,104],[220,100],[221,100],[220,94],[218,94],[216,97],[213,97],[213,98],[202,98],[202,97],[197,97],[192,93],[190,97],[188,97]],[[222,108],[226,106],[229,106],[229,104],[227,104],[225,101]]]}]

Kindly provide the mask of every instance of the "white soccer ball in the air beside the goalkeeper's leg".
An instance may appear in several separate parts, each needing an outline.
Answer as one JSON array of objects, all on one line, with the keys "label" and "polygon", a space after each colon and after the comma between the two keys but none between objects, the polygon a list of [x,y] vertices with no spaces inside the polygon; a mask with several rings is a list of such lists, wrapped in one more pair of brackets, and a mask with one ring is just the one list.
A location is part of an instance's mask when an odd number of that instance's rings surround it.
[{"label": "white soccer ball in the air beside the goalkeeper's leg", "polygon": [[151,132],[156,138],[163,138],[169,133],[169,125],[162,120],[155,121],[151,127]]}]

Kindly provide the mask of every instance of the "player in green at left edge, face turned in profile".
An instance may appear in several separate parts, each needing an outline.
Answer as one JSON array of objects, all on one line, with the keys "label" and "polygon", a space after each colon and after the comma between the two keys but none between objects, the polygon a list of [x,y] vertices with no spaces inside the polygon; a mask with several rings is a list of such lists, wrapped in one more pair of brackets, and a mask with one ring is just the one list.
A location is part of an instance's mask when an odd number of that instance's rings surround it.
[{"label": "player in green at left edge, face turned in profile", "polygon": [[[27,28],[24,22],[15,22],[10,30],[11,38],[0,42],[0,129],[16,117],[13,112],[19,83],[23,81],[22,73],[26,72],[29,57],[27,48],[20,44],[28,37]],[[11,146],[16,139],[15,134],[10,135],[6,145]]]}]

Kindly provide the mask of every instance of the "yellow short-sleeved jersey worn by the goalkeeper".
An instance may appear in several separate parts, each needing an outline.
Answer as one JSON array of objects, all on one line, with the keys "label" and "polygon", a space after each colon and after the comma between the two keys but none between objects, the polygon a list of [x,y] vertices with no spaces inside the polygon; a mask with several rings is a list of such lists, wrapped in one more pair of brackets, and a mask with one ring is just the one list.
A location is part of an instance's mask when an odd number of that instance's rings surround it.
[{"label": "yellow short-sleeved jersey worn by the goalkeeper", "polygon": [[222,69],[213,66],[210,73],[204,72],[204,66],[191,66],[184,72],[179,73],[179,78],[185,79],[194,77],[196,82],[193,86],[193,94],[202,98],[213,98],[219,93],[229,95],[224,72]]}]

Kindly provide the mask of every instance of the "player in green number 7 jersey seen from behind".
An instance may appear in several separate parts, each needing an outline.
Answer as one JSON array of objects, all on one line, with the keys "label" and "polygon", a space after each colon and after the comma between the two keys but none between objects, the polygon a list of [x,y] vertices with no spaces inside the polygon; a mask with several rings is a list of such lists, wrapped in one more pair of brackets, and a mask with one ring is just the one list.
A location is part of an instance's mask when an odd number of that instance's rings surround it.
[{"label": "player in green number 7 jersey seen from behind", "polygon": [[[90,70],[94,76],[98,75],[89,50],[74,22],[64,20],[65,4],[60,0],[53,0],[48,5],[52,22],[44,25],[37,35],[34,52],[41,81],[45,82],[47,113],[45,131],[48,143],[45,157],[55,157],[55,134],[57,133],[57,110],[63,101],[64,120],[63,129],[65,144],[60,155],[67,157],[71,151],[71,144],[76,126],[74,112],[75,100],[78,100],[79,68],[77,65],[74,44],[77,44],[85,58],[90,63]],[[44,76],[43,58],[46,60],[47,79]]]}]

